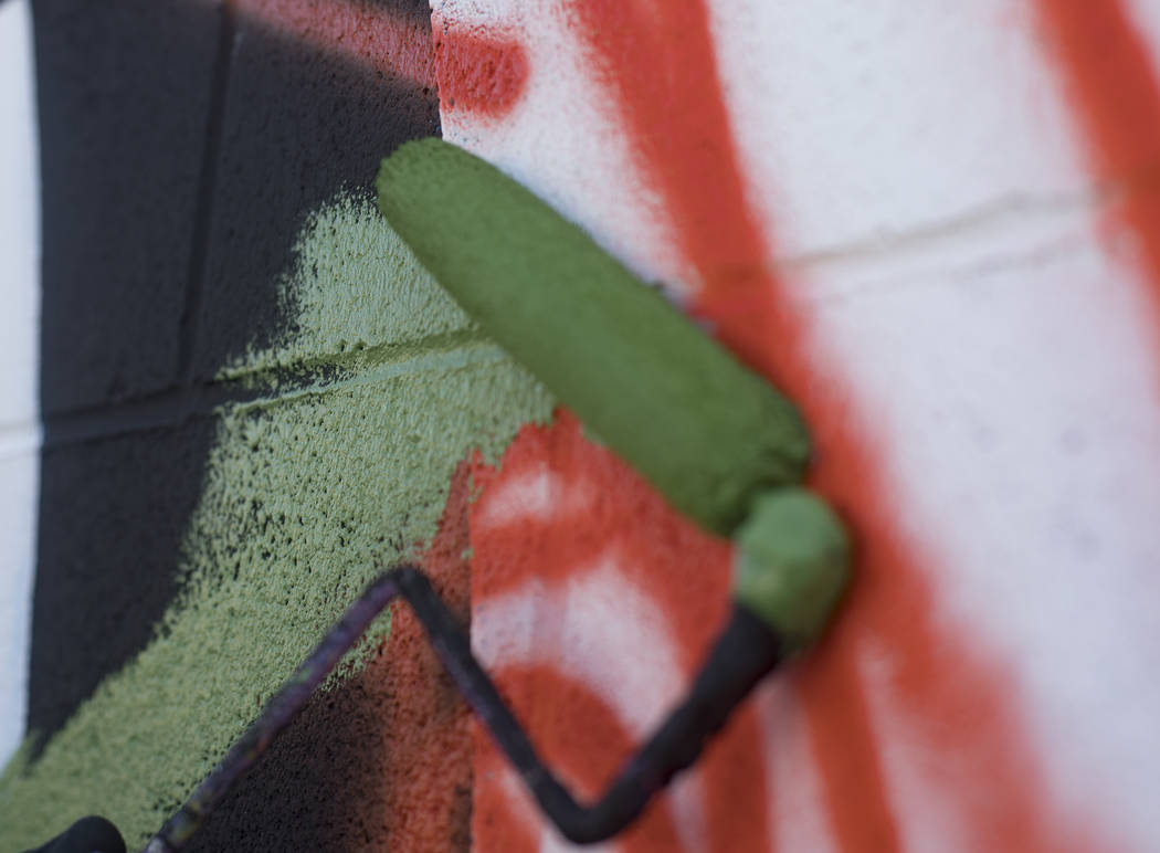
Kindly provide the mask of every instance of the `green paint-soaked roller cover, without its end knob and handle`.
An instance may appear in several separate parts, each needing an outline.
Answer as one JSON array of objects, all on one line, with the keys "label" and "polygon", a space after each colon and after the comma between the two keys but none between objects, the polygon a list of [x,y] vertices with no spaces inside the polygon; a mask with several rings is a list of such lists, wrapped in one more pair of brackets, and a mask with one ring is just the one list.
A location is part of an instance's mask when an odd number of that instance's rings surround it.
[{"label": "green paint-soaked roller cover, without its end knob and handle", "polygon": [[495,167],[408,143],[378,201],[484,332],[679,511],[730,535],[757,492],[802,478],[793,405]]}]

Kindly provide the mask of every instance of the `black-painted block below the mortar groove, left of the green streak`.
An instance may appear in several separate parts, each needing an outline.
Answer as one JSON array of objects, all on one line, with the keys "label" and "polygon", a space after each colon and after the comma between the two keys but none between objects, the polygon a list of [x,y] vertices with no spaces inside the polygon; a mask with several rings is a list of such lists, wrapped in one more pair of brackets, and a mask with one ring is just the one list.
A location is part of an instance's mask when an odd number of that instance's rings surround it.
[{"label": "black-painted block below the mortar groove, left of the green streak", "polygon": [[44,449],[30,729],[59,729],[153,637],[212,438],[206,417]]}]

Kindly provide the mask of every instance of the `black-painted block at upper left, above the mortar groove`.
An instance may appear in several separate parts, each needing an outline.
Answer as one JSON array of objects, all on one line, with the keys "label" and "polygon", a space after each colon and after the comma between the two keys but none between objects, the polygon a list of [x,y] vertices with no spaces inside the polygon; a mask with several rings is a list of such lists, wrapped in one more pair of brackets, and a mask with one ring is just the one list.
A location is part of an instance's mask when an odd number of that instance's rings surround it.
[{"label": "black-painted block at upper left, above the mortar groove", "polygon": [[217,14],[197,0],[35,0],[41,407],[176,378]]}]

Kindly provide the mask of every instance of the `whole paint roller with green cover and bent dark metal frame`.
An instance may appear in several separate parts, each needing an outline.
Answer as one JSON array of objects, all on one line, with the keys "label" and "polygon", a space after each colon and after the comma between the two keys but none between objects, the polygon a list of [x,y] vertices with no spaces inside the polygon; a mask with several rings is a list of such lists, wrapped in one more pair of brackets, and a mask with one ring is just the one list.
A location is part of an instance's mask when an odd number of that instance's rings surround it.
[{"label": "whole paint roller with green cover and bent dark metal frame", "polygon": [[[544,766],[427,578],[396,568],[351,605],[147,853],[186,846],[396,598],[544,814],[570,840],[595,843],[638,817],[770,671],[818,638],[844,590],[849,540],[800,486],[810,444],[789,400],[486,161],[423,139],[384,160],[377,186],[387,221],[485,333],[673,507],[733,540],[732,612],[686,697],[606,793],[580,803]],[[81,851],[68,832],[41,850]],[[85,853],[93,850],[114,847]]]}]

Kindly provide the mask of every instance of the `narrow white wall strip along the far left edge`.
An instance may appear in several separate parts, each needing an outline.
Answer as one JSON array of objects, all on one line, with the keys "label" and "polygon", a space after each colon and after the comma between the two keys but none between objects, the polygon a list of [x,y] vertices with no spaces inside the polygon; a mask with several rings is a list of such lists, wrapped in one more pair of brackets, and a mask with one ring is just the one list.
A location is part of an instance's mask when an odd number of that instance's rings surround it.
[{"label": "narrow white wall strip along the far left edge", "polygon": [[41,427],[41,197],[29,0],[0,2],[0,764],[24,736]]}]

